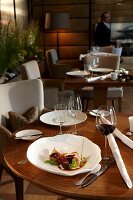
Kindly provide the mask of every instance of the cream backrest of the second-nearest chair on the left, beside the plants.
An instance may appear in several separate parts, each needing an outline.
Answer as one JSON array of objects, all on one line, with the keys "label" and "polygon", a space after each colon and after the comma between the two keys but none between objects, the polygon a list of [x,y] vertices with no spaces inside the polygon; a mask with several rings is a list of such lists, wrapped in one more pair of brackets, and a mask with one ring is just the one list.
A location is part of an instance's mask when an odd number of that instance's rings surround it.
[{"label": "cream backrest of the second-nearest chair on the left, beside the plants", "polygon": [[36,60],[32,60],[32,61],[22,64],[21,77],[23,80],[41,78],[39,66]]}]

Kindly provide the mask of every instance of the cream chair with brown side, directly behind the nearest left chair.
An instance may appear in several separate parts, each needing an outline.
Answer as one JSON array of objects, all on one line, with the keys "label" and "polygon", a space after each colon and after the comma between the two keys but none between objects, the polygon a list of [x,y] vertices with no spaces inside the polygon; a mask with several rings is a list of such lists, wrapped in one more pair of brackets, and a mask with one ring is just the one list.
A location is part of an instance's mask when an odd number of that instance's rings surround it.
[{"label": "cream chair with brown side, directly behind the nearest left chair", "polygon": [[[21,77],[23,80],[41,79],[41,74],[37,61],[32,60],[21,66]],[[61,98],[69,98],[72,91],[64,90],[62,79],[41,79],[44,85],[44,105],[45,108],[53,109]]]}]

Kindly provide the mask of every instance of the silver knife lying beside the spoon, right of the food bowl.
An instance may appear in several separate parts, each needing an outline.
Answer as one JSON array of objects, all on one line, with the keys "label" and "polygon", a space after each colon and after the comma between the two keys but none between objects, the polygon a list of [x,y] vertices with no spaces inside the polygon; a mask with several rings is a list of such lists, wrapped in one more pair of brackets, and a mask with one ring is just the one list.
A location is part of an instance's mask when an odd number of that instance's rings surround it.
[{"label": "silver knife lying beside the spoon, right of the food bowl", "polygon": [[101,169],[93,174],[88,180],[84,181],[81,185],[82,188],[87,187],[90,185],[93,181],[95,181],[101,174],[103,174],[111,165],[105,165],[102,166]]}]

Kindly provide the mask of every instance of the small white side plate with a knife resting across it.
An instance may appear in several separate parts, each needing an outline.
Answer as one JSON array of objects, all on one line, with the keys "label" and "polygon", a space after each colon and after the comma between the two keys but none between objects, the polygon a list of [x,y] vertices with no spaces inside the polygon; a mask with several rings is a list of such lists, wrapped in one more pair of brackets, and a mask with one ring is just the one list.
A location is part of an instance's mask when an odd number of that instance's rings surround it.
[{"label": "small white side plate with a knife resting across it", "polygon": [[16,139],[18,137],[18,139],[21,139],[21,140],[35,140],[35,139],[37,139],[37,138],[40,137],[40,134],[42,134],[42,132],[39,131],[39,130],[36,130],[36,129],[26,129],[26,130],[18,131],[15,134],[15,136],[16,136]]}]

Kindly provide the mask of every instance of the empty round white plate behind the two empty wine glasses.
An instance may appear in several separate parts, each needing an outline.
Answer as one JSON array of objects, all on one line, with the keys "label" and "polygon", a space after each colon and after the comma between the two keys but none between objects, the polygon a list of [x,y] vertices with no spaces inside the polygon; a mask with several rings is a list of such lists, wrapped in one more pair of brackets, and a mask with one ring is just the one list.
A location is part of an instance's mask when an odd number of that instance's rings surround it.
[{"label": "empty round white plate behind the two empty wine glasses", "polygon": [[[47,112],[40,116],[40,120],[45,124],[59,126],[59,124],[56,122],[57,112],[60,111]],[[71,126],[73,124],[79,124],[87,119],[87,115],[85,113],[81,111],[75,111],[75,112],[78,112],[76,119],[74,119],[68,112],[66,121],[63,123],[62,126]]]}]

